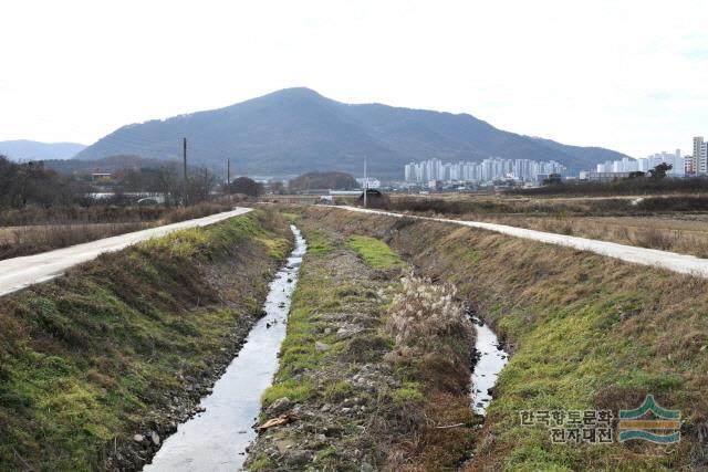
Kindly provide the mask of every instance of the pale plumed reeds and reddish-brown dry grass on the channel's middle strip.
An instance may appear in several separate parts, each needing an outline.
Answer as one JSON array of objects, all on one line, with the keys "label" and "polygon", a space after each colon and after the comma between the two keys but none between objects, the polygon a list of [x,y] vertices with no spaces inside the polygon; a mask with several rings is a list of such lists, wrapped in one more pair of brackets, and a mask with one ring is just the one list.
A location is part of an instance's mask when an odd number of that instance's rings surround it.
[{"label": "pale plumed reeds and reddish-brown dry grass on the channel's middle strip", "polygon": [[468,429],[439,428],[472,423],[468,388],[475,334],[456,295],[449,284],[408,275],[387,313],[385,329],[396,344],[385,360],[420,386],[420,392],[409,388],[407,395],[419,395],[423,408],[398,411],[395,428],[408,432],[407,441],[386,450],[385,470],[448,470],[470,445]]}]

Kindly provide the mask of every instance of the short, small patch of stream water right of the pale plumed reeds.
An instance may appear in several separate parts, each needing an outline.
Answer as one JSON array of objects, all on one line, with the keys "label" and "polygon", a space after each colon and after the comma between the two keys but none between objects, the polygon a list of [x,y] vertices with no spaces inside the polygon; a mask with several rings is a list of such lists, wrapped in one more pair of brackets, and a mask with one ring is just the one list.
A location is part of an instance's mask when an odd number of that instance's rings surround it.
[{"label": "short, small patch of stream water right of the pale plumed reeds", "polygon": [[489,391],[497,384],[497,377],[509,361],[509,355],[503,350],[497,335],[485,322],[472,317],[477,331],[475,349],[477,350],[477,364],[472,370],[472,408],[478,415],[485,415],[487,406],[491,401]]}]

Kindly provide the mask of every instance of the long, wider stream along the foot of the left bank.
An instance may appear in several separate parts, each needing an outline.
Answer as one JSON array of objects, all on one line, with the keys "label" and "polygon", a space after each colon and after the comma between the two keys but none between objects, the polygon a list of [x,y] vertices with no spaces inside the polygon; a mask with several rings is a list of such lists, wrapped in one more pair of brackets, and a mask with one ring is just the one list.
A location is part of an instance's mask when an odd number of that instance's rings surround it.
[{"label": "long, wider stream along the foot of the left bank", "polygon": [[246,448],[256,438],[251,428],[261,396],[278,369],[278,352],[285,338],[290,298],[306,244],[291,225],[295,249],[270,284],[266,316],[251,329],[246,344],[214,391],[201,399],[205,411],[179,424],[167,438],[146,472],[237,471],[246,462]]}]

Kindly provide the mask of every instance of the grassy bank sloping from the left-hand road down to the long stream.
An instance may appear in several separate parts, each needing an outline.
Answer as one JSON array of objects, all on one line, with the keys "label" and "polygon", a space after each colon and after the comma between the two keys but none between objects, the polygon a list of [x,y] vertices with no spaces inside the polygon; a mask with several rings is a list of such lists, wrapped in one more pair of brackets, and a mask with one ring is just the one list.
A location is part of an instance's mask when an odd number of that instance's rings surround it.
[{"label": "grassy bank sloping from the left-hand road down to the long stream", "polygon": [[270,219],[176,232],[2,298],[0,470],[95,469],[106,445],[157,429],[183,378],[226,360],[260,310],[289,244]]}]

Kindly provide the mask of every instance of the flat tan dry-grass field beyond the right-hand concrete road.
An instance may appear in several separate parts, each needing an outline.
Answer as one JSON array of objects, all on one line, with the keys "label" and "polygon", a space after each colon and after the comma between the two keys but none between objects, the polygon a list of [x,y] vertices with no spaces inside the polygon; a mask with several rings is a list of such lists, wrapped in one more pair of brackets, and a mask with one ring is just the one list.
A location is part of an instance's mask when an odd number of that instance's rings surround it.
[{"label": "flat tan dry-grass field beyond the right-hand concrete road", "polygon": [[705,196],[398,196],[389,209],[486,221],[708,258]]}]

